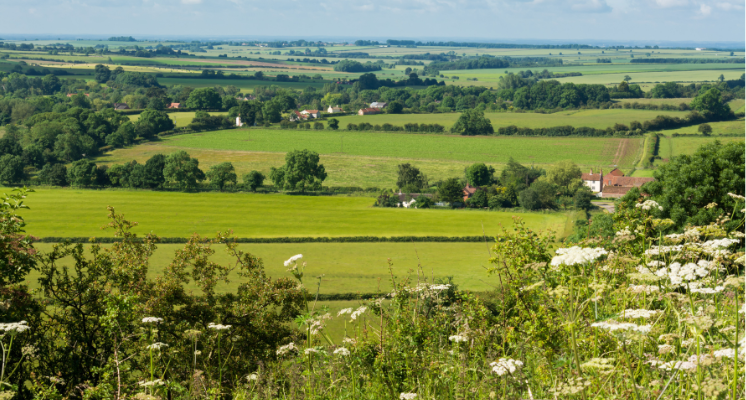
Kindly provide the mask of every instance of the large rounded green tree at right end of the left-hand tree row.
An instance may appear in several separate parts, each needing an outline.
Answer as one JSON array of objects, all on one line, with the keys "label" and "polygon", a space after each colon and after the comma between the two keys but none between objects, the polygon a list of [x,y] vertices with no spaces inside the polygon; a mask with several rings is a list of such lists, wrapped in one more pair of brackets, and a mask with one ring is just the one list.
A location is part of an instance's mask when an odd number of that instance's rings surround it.
[{"label": "large rounded green tree at right end of the left-hand tree row", "polygon": [[310,150],[295,150],[285,155],[285,165],[272,167],[269,175],[278,189],[320,190],[326,179],[326,170],[319,164],[319,153]]}]

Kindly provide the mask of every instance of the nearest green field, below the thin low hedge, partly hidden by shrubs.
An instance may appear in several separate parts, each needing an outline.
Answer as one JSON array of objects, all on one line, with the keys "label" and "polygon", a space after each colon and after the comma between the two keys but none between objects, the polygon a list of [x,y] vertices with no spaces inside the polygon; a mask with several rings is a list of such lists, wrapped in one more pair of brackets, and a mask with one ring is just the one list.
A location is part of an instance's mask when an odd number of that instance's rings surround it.
[{"label": "nearest green field, below the thin low hedge, partly hidden by shrubs", "polygon": [[[33,225],[29,226],[33,231]],[[106,233],[106,232],[102,232]],[[111,232],[108,233],[108,236]],[[316,277],[324,275],[320,293],[375,293],[379,289],[391,289],[388,259],[393,263],[394,274],[398,278],[414,276],[417,280],[417,265],[427,273],[428,278],[453,276],[454,283],[468,290],[489,290],[496,285],[487,276],[483,267],[489,265],[489,248],[494,238],[486,243],[272,243],[241,244],[239,249],[262,258],[267,274],[273,278],[291,277],[283,262],[295,254],[303,254],[307,263],[306,284],[309,290],[316,291]],[[86,245],[88,247],[88,245]],[[109,246],[109,245],[103,245]],[[41,251],[50,251],[51,243],[37,243]],[[160,244],[150,259],[151,277],[162,274],[171,263],[174,252],[183,244]],[[225,251],[224,246],[214,246],[211,259],[220,265],[232,265],[235,260]],[[68,263],[65,260],[65,263]],[[29,283],[34,284],[37,275],[32,273]],[[230,283],[221,283],[217,290],[235,291],[240,281],[238,274],[231,275]]]}]

